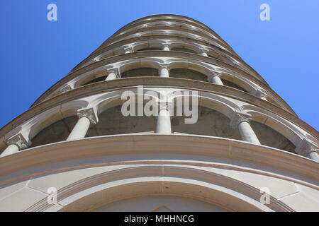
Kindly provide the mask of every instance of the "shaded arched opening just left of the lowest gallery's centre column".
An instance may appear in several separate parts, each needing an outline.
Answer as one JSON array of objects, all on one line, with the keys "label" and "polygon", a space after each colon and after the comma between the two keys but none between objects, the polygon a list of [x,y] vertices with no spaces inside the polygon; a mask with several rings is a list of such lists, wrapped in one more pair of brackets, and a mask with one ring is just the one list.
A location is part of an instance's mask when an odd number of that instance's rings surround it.
[{"label": "shaded arched opening just left of the lowest gallery's centre column", "polygon": [[155,117],[138,116],[137,104],[135,105],[135,116],[123,116],[121,107],[122,105],[111,107],[99,114],[99,123],[90,126],[86,137],[155,131]]}]

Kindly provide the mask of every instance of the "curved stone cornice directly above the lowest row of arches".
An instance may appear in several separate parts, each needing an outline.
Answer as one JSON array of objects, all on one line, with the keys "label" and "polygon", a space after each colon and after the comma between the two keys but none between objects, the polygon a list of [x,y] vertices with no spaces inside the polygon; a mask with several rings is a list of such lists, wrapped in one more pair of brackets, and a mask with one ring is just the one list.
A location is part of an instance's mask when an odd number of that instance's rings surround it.
[{"label": "curved stone cornice directly above the lowest row of arches", "polygon": [[227,86],[214,85],[213,83],[194,81],[184,78],[159,78],[159,77],[135,77],[135,78],[121,78],[112,81],[102,81],[99,83],[93,83],[91,85],[84,85],[80,88],[76,88],[67,93],[62,93],[55,97],[52,97],[44,102],[40,102],[38,105],[31,107],[23,114],[20,114],[16,119],[13,119],[8,124],[6,124],[2,129],[0,129],[0,137],[4,136],[6,133],[11,131],[11,129],[22,124],[24,121],[35,117],[41,112],[45,112],[47,109],[62,105],[65,102],[75,100],[80,97],[86,97],[88,95],[94,95],[97,93],[105,91],[113,91],[118,89],[135,88],[138,85],[144,85],[146,87],[164,87],[164,88],[186,88],[189,90],[201,90],[208,93],[216,93],[218,95],[224,95],[232,97],[242,102],[247,102],[252,105],[257,105],[262,109],[266,109],[269,112],[278,114],[280,117],[291,121],[293,124],[300,126],[305,131],[308,131],[312,136],[319,140],[318,131],[313,129],[313,127],[306,124],[295,115],[286,112],[286,110],[277,107],[272,103],[261,100],[254,95],[242,92],[235,88],[230,88]]}]

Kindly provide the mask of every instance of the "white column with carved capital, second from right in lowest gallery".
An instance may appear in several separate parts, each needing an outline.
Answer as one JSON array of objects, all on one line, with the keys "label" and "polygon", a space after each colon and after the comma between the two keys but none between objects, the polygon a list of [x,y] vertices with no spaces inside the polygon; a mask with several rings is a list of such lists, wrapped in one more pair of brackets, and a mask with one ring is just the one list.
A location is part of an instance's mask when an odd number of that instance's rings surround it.
[{"label": "white column with carved capital, second from right in lowest gallery", "polygon": [[231,126],[233,128],[238,128],[238,131],[240,132],[240,136],[242,137],[243,141],[260,145],[256,133],[254,133],[252,126],[250,126],[250,119],[250,114],[235,112],[233,120],[231,122]]}]

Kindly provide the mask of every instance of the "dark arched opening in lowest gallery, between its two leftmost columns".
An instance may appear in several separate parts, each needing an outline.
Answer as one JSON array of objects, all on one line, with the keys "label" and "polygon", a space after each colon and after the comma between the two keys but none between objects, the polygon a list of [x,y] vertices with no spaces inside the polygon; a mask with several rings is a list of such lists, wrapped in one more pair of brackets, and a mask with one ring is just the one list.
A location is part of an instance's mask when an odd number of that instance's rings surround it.
[{"label": "dark arched opening in lowest gallery, between its two leftmost columns", "polygon": [[45,145],[48,143],[55,143],[60,141],[66,141],[69,133],[71,133],[75,124],[77,124],[78,117],[72,116],[56,121],[55,123],[47,126],[40,131],[31,140],[30,148]]}]

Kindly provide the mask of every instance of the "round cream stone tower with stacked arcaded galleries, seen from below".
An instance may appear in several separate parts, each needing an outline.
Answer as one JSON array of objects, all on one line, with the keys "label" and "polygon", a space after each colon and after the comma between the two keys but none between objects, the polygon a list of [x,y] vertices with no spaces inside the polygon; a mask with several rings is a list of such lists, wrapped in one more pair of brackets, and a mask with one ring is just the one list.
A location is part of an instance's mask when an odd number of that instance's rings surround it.
[{"label": "round cream stone tower with stacked arcaded galleries, seen from below", "polygon": [[0,210],[319,211],[318,140],[216,32],[147,16],[0,130]]}]

